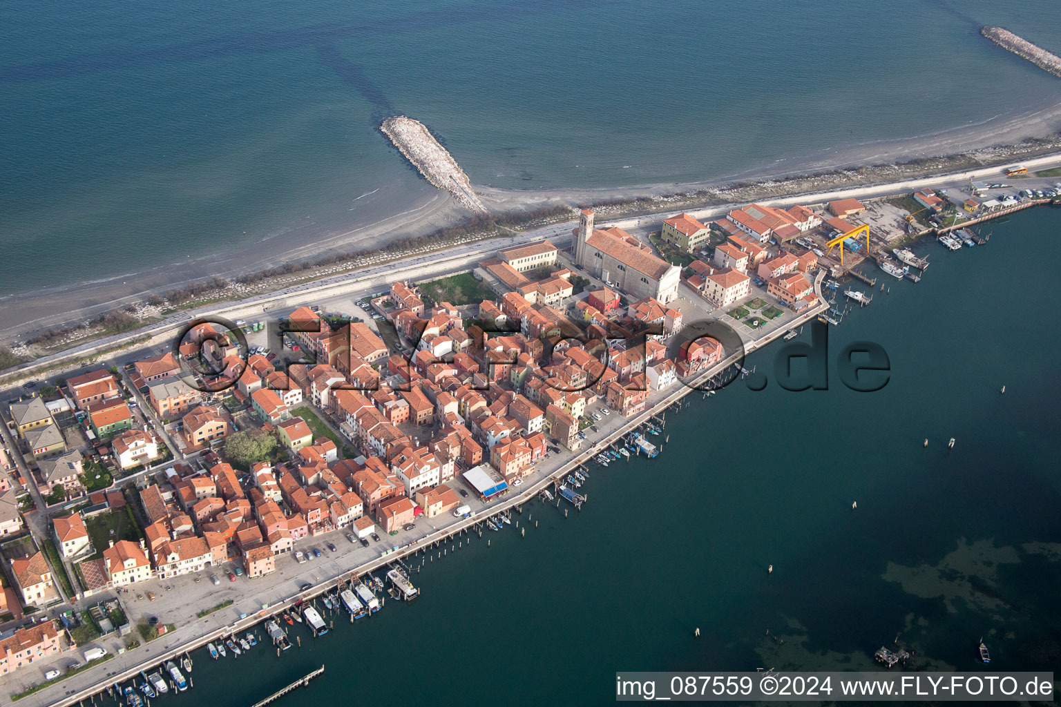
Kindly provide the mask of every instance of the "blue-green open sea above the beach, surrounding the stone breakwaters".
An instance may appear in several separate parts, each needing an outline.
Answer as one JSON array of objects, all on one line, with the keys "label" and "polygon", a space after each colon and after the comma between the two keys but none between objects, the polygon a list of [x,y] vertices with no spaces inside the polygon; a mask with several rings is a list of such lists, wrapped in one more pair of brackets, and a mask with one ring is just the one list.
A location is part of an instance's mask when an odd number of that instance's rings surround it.
[{"label": "blue-green open sea above the beach, surrounding the stone breakwaters", "polygon": [[1061,51],[1057,3],[13,0],[0,297],[202,272],[422,202],[376,130],[394,112],[475,183],[597,188],[783,167],[1056,96],[977,23]]}]

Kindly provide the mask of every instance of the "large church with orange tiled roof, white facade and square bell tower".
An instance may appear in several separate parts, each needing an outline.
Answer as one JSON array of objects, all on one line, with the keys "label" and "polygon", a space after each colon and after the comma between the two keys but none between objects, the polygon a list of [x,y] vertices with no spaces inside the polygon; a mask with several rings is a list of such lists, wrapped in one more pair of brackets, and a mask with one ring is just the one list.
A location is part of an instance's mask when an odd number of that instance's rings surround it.
[{"label": "large church with orange tiled roof, white facade and square bell tower", "polygon": [[678,296],[681,269],[621,228],[595,229],[593,211],[584,209],[575,231],[575,262],[594,277],[632,297],[654,297],[666,304]]}]

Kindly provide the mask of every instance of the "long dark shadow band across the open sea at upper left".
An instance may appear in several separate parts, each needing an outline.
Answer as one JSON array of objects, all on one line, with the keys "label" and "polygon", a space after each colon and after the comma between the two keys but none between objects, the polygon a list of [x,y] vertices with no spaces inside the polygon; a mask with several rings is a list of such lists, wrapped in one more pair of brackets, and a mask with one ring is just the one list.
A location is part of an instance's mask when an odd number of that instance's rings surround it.
[{"label": "long dark shadow band across the open sea at upper left", "polygon": [[[358,22],[314,24],[305,28],[231,34],[212,39],[134,50],[79,54],[49,61],[0,67],[0,82],[66,78],[120,69],[194,61],[239,54],[267,53],[300,47],[319,47],[332,41],[380,37],[401,32],[435,30],[468,22],[495,22],[509,17],[549,14],[555,2],[525,3],[511,0],[417,12],[400,17],[362,19]],[[573,4],[573,3],[566,3]]]}]

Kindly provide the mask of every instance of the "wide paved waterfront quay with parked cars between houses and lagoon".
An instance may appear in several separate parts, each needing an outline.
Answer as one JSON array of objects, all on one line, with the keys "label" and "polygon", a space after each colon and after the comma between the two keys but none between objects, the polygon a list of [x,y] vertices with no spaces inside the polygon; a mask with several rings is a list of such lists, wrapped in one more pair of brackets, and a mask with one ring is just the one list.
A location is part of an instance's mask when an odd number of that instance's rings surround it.
[{"label": "wide paved waterfront quay with parked cars between houses and lagoon", "polygon": [[[819,295],[823,280],[824,272],[822,271],[815,279],[815,288]],[[255,580],[256,583],[262,582],[263,584],[253,584],[250,586],[261,587],[260,589],[255,588],[254,593],[247,596],[248,593],[244,588],[241,593],[242,596],[231,606],[222,608],[204,618],[191,620],[189,623],[181,623],[178,616],[167,616],[167,619],[172,618],[180,624],[172,633],[166,634],[138,649],[116,655],[110,660],[30,694],[20,700],[19,704],[32,705],[34,707],[46,707],[47,705],[67,707],[68,705],[79,704],[90,700],[92,695],[105,690],[109,685],[134,678],[141,671],[151,672],[167,660],[184,656],[206,646],[208,642],[219,641],[233,634],[247,632],[271,617],[291,611],[298,603],[313,602],[323,594],[332,591],[335,587],[363,577],[366,573],[382,570],[390,565],[397,564],[400,566],[401,561],[417,553],[428,554],[432,551],[437,552],[436,548],[447,541],[455,542],[459,537],[465,537],[468,542],[471,542],[473,537],[481,540],[484,522],[501,514],[511,514],[514,511],[521,513],[523,506],[534,500],[543,490],[560,484],[568,475],[592,461],[603,449],[621,441],[631,430],[643,426],[653,419],[665,424],[662,421],[663,412],[675,403],[681,401],[685,395],[700,392],[697,386],[702,386],[712,377],[727,371],[727,369],[730,369],[734,365],[740,365],[743,356],[781,338],[786,332],[796,331],[799,326],[813,321],[827,308],[828,303],[823,298],[819,297],[817,304],[786,321],[785,325],[776,326],[770,331],[756,332],[756,336],[747,338],[744,342],[743,352],[734,352],[728,355],[716,365],[700,371],[685,384],[676,382],[669,389],[660,390],[649,395],[648,404],[643,412],[630,418],[622,418],[618,414],[604,418],[599,423],[601,431],[594,437],[591,446],[577,453],[564,452],[547,466],[542,464],[540,469],[537,469],[528,478],[524,479],[521,489],[514,489],[497,500],[476,503],[471,517],[453,519],[450,514],[435,516],[434,518],[421,517],[418,519],[418,524],[420,525],[430,526],[432,522],[442,522],[442,524],[437,527],[432,526],[430,530],[418,536],[410,536],[407,533],[403,533],[401,545],[386,550],[381,555],[371,560],[361,562],[353,567],[345,568],[341,566],[341,562],[318,560],[316,561],[317,564],[313,565],[312,569],[309,570],[312,572],[309,579],[319,579],[313,582],[313,586],[305,591],[292,593],[290,582],[296,581],[297,578],[277,573]],[[606,476],[607,472],[604,470],[602,472],[595,473],[594,478]],[[557,503],[559,505],[560,502],[566,501],[557,498]],[[519,523],[518,519],[517,523]],[[522,527],[525,529],[525,525]],[[487,542],[489,543],[489,540]],[[351,546],[351,548],[361,549],[360,546]],[[298,566],[300,570],[302,567],[305,565]],[[194,588],[194,585],[188,583],[187,578],[178,579],[182,580],[182,584],[189,589]],[[415,575],[413,575],[412,579],[415,582]],[[178,590],[174,593],[174,596],[176,597],[180,594],[182,593]],[[159,609],[157,612],[159,614],[164,608],[163,602],[170,601],[167,595],[162,593],[160,595],[156,604],[146,604],[152,608]],[[209,591],[207,596],[210,596]],[[203,609],[209,608],[209,606],[197,605],[189,608]],[[237,616],[240,614],[243,616],[233,619],[227,618],[231,617],[233,613],[237,613]],[[161,650],[159,650],[159,644],[161,644]],[[262,649],[272,650],[267,646],[263,646]],[[192,675],[191,678],[194,685],[194,676]],[[62,694],[59,694],[60,692]]]}]

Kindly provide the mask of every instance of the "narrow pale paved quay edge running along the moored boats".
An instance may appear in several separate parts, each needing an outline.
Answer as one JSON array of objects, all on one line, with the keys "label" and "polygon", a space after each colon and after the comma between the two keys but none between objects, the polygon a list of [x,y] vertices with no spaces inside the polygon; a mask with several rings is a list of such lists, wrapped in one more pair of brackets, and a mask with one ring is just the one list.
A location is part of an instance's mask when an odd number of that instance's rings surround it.
[{"label": "narrow pale paved quay edge running along the moored boats", "polygon": [[[676,389],[671,390],[668,392],[665,391],[660,400],[654,402],[650,406],[646,407],[644,411],[629,419],[622,420],[620,426],[615,430],[605,434],[603,437],[601,437],[599,440],[595,441],[594,445],[588,446],[585,449],[576,453],[571,459],[560,463],[560,465],[556,467],[554,471],[551,472],[545,471],[544,474],[542,475],[542,478],[532,481],[526,489],[514,494],[511,498],[503,500],[497,503],[495,506],[490,506],[487,509],[481,511],[479,514],[473,515],[471,518],[456,519],[449,526],[438,529],[435,533],[424,536],[423,538],[413,541],[407,545],[402,546],[398,550],[390,551],[382,556],[375,558],[373,560],[362,563],[348,570],[342,571],[340,572],[340,575],[335,577],[321,580],[316,584],[314,584],[312,589],[309,589],[307,591],[296,593],[295,595],[288,597],[278,604],[271,604],[267,607],[263,607],[262,609],[246,616],[245,618],[237,619],[224,625],[201,633],[197,636],[192,636],[179,644],[167,648],[160,654],[151,656],[150,658],[143,660],[139,660],[135,665],[126,667],[120,672],[109,674],[105,676],[103,679],[97,681],[89,687],[76,690],[72,693],[68,693],[64,695],[64,697],[60,700],[50,702],[48,703],[49,707],[72,707],[72,705],[83,702],[86,699],[90,699],[93,695],[101,694],[106,689],[106,687],[112,683],[121,683],[126,679],[129,679],[131,677],[135,677],[141,671],[147,672],[164,664],[166,660],[168,659],[201,649],[204,646],[206,646],[207,642],[215,640],[219,637],[227,636],[232,633],[242,633],[244,631],[247,631],[250,628],[268,620],[269,618],[279,616],[283,612],[291,609],[292,606],[295,604],[295,602],[299,600],[312,601],[314,598],[318,597],[319,595],[326,591],[331,590],[332,588],[336,587],[338,584],[343,582],[346,582],[353,578],[361,577],[366,572],[376,571],[382,567],[385,567],[394,563],[395,560],[401,560],[411,554],[415,554],[416,552],[419,552],[425,547],[434,543],[442,542],[449,538],[450,536],[457,535],[463,532],[469,532],[473,527],[477,526],[479,524],[483,523],[488,518],[494,517],[495,515],[508,511],[510,509],[516,509],[528,501],[533,501],[538,496],[538,494],[541,493],[543,489],[561,480],[566,474],[570,474],[576,467],[591,461],[595,456],[597,456],[601,453],[602,449],[614,444],[614,442],[618,439],[621,439],[622,437],[627,435],[630,430],[636,429],[637,427],[656,418],[660,413],[665,412],[667,408],[669,408],[676,402],[682,400],[685,395],[692,394],[693,392],[700,392],[693,386],[700,385],[703,382],[710,379],[712,376],[717,375],[720,372],[724,372],[725,370],[733,366],[734,363],[738,361],[742,358],[742,356],[747,357],[748,355],[758,351],[759,349],[762,349],[763,347],[772,343],[777,339],[784,336],[786,332],[795,330],[812,321],[815,317],[817,317],[819,313],[823,312],[829,307],[829,304],[821,297],[821,285],[824,279],[825,276],[823,271],[819,272],[818,276],[815,278],[814,287],[819,296],[819,301],[816,306],[811,307],[806,312],[795,317],[783,328],[779,326],[770,332],[764,332],[762,337],[749,340],[744,346],[742,351],[730,354],[729,356],[727,356],[726,358],[724,358],[721,361],[711,367],[710,369],[701,371],[692,381],[690,381],[689,385],[682,383],[681,381],[677,381],[675,384],[673,384],[674,386],[676,386]],[[195,621],[197,620],[198,619],[196,619]],[[193,621],[190,624],[186,624],[186,626],[187,625],[194,626],[195,622]],[[180,629],[178,629],[177,631],[179,630]],[[145,644],[141,644],[140,648],[143,648]],[[137,651],[140,650],[140,648],[133,650]],[[269,648],[269,647],[263,643],[263,648]],[[115,656],[116,659],[119,656]],[[106,661],[104,665],[107,665],[108,667],[112,668],[114,660]],[[59,683],[56,683],[54,685],[62,685],[62,684],[63,681],[59,681]],[[47,690],[48,688],[45,688],[44,690],[39,690],[37,693],[34,694],[42,693]],[[22,704],[29,704],[29,699],[33,695],[27,695],[25,699],[28,700],[28,702]]]}]

